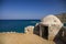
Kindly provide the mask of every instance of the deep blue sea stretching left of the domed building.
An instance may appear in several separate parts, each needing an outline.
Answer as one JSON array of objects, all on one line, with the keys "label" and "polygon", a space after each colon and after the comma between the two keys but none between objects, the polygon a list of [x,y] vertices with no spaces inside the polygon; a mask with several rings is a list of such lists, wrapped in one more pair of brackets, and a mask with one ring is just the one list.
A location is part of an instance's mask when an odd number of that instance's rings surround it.
[{"label": "deep blue sea stretching left of the domed building", "polygon": [[24,33],[24,28],[35,25],[40,20],[0,20],[0,32]]}]

